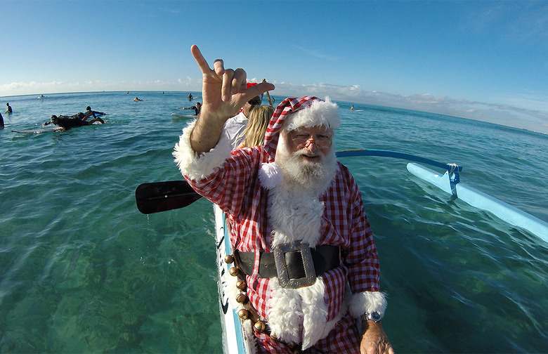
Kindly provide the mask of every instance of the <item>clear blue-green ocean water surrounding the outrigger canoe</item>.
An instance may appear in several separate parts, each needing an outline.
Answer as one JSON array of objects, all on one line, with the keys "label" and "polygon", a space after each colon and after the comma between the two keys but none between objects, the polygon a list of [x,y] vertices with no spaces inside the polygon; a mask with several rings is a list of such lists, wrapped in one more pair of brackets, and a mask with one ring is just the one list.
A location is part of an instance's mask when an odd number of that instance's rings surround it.
[{"label": "clear blue-green ocean water surrounding the outrigger canoe", "polygon": [[[211,204],[145,216],[134,198],[140,183],[181,179],[171,151],[186,122],[171,113],[189,105],[187,95],[1,98],[14,112],[0,129],[0,353],[221,353]],[[11,131],[87,105],[109,122]],[[548,221],[547,135],[339,107],[338,150],[461,164],[462,182]],[[396,353],[548,353],[547,242],[451,199],[403,160],[341,162],[376,237]]]}]

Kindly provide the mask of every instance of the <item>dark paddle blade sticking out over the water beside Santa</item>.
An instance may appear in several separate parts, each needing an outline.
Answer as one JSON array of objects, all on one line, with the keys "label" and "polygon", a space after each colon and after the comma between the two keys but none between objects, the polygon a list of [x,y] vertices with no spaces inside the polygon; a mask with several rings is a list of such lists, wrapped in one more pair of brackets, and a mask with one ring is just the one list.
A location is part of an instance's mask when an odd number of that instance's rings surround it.
[{"label": "dark paddle blade sticking out over the water beside Santa", "polygon": [[183,208],[201,197],[187,181],[143,183],[135,190],[137,209],[143,214]]}]

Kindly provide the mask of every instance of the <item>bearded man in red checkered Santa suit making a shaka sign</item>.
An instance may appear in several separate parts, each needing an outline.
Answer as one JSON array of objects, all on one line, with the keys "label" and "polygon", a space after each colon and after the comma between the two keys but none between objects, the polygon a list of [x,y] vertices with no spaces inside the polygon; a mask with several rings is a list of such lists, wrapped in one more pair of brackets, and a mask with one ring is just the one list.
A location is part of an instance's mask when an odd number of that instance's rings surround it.
[{"label": "bearded man in red checkered Santa suit making a shaka sign", "polygon": [[274,86],[247,88],[244,70],[225,69],[221,59],[211,70],[197,46],[191,51],[203,74],[202,112],[183,129],[174,157],[193,189],[229,214],[237,269],[230,299],[249,347],[393,354],[362,196],[334,154],[338,106],[286,98],[263,145],[230,151],[219,140],[224,122]]}]

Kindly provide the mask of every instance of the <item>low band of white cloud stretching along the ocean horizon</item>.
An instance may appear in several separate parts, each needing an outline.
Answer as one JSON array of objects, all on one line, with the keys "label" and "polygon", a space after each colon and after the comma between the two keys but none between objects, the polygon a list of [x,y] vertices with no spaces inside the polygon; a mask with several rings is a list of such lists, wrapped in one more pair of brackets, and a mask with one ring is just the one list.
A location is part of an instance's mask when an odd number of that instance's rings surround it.
[{"label": "low band of white cloud stretching along the ocean horizon", "polygon": [[[260,80],[252,78],[249,81]],[[497,100],[502,103],[486,103],[435,96],[431,93],[402,96],[379,91],[363,91],[358,85],[337,86],[325,83],[297,85],[276,81],[273,84],[276,89],[271,94],[275,96],[314,95],[320,98],[329,96],[332,100],[447,114],[548,133],[548,97],[539,93],[531,93],[528,96],[499,97]],[[200,91],[201,88],[202,82],[191,77],[179,78],[176,81],[160,79],[154,81],[91,80],[84,83],[31,81],[2,84],[0,96],[81,91]]]}]

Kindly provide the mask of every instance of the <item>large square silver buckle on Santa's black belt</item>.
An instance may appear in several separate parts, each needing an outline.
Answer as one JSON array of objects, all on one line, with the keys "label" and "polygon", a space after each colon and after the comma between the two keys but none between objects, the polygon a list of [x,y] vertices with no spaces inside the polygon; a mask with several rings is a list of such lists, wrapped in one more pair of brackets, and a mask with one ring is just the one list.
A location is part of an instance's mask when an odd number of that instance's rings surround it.
[{"label": "large square silver buckle on Santa's black belt", "polygon": [[[273,252],[278,280],[280,281],[282,288],[297,289],[314,284],[316,280],[316,271],[314,270],[311,248],[308,244],[301,243],[300,241],[292,244],[280,244],[274,247]],[[287,270],[287,263],[285,262],[285,254],[287,252],[301,252],[305,274],[304,277],[289,279],[289,271]]]}]

